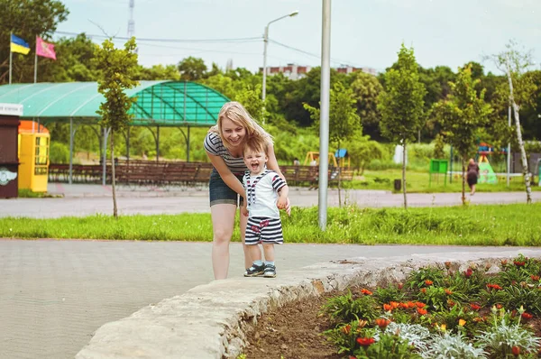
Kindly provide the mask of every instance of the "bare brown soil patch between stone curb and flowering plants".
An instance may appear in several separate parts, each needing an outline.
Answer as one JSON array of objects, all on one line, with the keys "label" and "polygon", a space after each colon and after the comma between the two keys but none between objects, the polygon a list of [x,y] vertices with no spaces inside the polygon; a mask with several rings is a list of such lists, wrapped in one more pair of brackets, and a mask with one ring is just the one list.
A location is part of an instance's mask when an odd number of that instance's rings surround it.
[{"label": "bare brown soil patch between stone curb and flowering plants", "polygon": [[333,326],[319,315],[326,299],[338,293],[325,293],[294,301],[263,314],[257,326],[247,333],[246,359],[338,359],[334,345],[321,335]]}]

